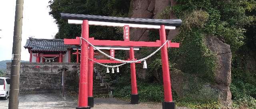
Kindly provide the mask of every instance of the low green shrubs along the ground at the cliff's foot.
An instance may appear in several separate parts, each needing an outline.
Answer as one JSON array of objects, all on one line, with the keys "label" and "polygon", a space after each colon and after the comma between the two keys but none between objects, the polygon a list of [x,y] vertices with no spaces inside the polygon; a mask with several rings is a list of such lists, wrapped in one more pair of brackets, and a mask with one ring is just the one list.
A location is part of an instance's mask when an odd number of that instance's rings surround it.
[{"label": "low green shrubs along the ground at the cliff's foot", "polygon": [[[125,101],[130,101],[130,84],[124,86],[124,84],[116,85],[117,88],[113,92],[114,97],[120,98]],[[159,83],[142,83],[138,82],[138,95],[140,102],[162,102],[164,100],[163,86]],[[192,94],[191,94],[192,95]],[[196,95],[198,96],[198,95]],[[219,103],[211,99],[201,98],[179,98],[175,91],[172,90],[172,97],[178,106],[190,107],[190,108],[201,108],[201,109],[218,109]],[[210,97],[210,96],[209,96]]]}]

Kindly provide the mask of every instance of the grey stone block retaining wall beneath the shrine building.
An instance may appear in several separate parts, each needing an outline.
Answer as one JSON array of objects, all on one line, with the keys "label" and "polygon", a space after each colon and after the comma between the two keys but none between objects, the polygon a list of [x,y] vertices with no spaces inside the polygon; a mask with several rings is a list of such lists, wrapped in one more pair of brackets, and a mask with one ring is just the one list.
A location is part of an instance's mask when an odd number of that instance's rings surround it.
[{"label": "grey stone block retaining wall beneath the shrine building", "polygon": [[[6,76],[10,77],[11,62],[7,62],[6,64]],[[64,74],[65,89],[76,90],[76,87],[78,86],[79,64],[21,62],[20,91],[62,90],[62,73],[58,72],[58,69],[64,65],[68,67],[66,74]],[[39,68],[36,66],[39,66]]]}]

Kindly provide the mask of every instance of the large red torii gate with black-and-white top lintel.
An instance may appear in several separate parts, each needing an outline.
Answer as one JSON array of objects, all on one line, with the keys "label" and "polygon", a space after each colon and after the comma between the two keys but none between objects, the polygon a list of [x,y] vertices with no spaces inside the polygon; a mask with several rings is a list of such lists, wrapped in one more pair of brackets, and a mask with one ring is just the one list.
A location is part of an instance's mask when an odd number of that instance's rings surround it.
[{"label": "large red torii gate with black-and-white top lintel", "polygon": [[[118,18],[106,16],[92,16],[82,14],[61,14],[62,18],[68,18],[69,23],[82,24],[82,38],[92,43],[92,45],[105,46],[125,46],[125,47],[160,47],[166,42],[165,29],[175,29],[175,26],[181,25],[180,19],[162,20],[162,19],[136,19],[136,18]],[[70,20],[71,19],[71,20]],[[119,22],[119,23],[116,23]],[[154,28],[160,29],[160,41],[143,42],[143,41],[109,41],[109,40],[94,40],[89,38],[89,25],[105,25],[105,26],[120,26],[130,25],[130,27],[139,28]],[[167,26],[165,26],[167,25]],[[168,26],[169,25],[169,26]],[[126,29],[126,28],[124,28]],[[125,33],[125,31],[124,31]],[[125,34],[126,35],[126,34]],[[88,106],[88,72],[89,78],[92,77],[90,72],[93,72],[93,62],[88,60],[88,43],[79,37],[76,39],[64,39],[65,44],[81,45],[81,62],[80,62],[80,81],[79,81],[79,96],[77,109],[90,109]],[[170,41],[169,41],[170,42]],[[179,47],[179,43],[168,43],[169,47]],[[90,46],[91,48],[91,46]],[[90,53],[94,53],[91,49]],[[131,53],[131,52],[130,52]],[[90,55],[90,58],[93,55]],[[134,58],[134,57],[133,57]],[[164,84],[164,102],[162,102],[163,109],[175,109],[175,103],[172,101],[171,81],[169,74],[169,62],[167,46],[161,48],[163,84]],[[89,64],[88,64],[89,61]],[[134,63],[133,63],[134,64]],[[89,65],[89,66],[88,66]],[[134,66],[135,70],[135,66]],[[131,74],[132,80],[136,81],[136,74]],[[135,77],[135,78],[134,78]],[[90,80],[90,79],[89,79]],[[90,80],[92,81],[92,80]],[[89,81],[89,82],[90,82]],[[92,84],[92,83],[90,83]],[[90,86],[92,87],[92,86]],[[138,92],[136,93],[138,95]]]}]

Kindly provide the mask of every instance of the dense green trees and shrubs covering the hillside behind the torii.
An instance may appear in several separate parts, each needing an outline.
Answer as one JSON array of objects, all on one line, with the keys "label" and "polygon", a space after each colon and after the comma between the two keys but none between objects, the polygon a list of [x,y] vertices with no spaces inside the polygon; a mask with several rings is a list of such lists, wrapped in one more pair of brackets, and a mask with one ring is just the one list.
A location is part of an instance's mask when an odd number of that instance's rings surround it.
[{"label": "dense green trees and shrubs covering the hillside behind the torii", "polygon": [[[256,55],[256,1],[255,0],[176,0],[177,5],[166,7],[159,14],[161,19],[169,19],[170,11],[183,24],[180,33],[173,39],[180,42],[179,49],[169,49],[171,72],[181,74],[190,85],[184,85],[182,94],[174,94],[177,105],[191,108],[218,108],[218,91],[208,86],[214,85],[217,55],[205,44],[208,37],[217,37],[229,44],[232,51],[232,92],[233,106],[236,108],[256,108],[256,69],[253,68]],[[51,12],[59,31],[55,38],[74,38],[80,35],[80,25],[69,25],[60,13],[91,14],[101,16],[127,17],[130,0],[51,0]],[[90,26],[90,36],[96,39],[121,40],[122,28]],[[110,37],[111,36],[111,37]],[[158,31],[149,30],[151,41],[159,39]],[[149,49],[139,51],[142,57],[151,53]],[[143,54],[143,55],[142,55]],[[124,51],[116,52],[124,57]],[[163,100],[162,68],[160,53],[148,61],[145,80],[139,80],[138,91],[141,101]],[[252,61],[250,64],[250,61]],[[141,68],[141,65],[136,68]],[[115,97],[130,99],[130,68],[120,68],[119,74],[108,74],[109,81],[116,86]],[[172,73],[173,74],[173,73]],[[122,86],[122,87],[119,87]],[[185,87],[188,86],[188,87]],[[147,92],[147,93],[145,93]],[[173,91],[175,93],[175,91]],[[177,92],[176,92],[177,93]],[[199,95],[208,97],[198,97]],[[211,97],[209,97],[211,96]]]}]

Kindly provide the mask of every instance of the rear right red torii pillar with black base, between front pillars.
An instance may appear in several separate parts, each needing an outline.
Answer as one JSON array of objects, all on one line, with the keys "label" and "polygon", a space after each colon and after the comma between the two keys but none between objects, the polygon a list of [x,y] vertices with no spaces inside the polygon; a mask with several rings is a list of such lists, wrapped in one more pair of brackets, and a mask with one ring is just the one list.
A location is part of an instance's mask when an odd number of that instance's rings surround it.
[{"label": "rear right red torii pillar with black base, between front pillars", "polygon": [[[134,59],[134,50],[132,47],[130,48],[130,59],[131,60]],[[131,86],[132,86],[131,103],[138,104],[139,96],[138,96],[137,82],[136,82],[135,63],[131,63],[130,68],[131,68]]]}]

